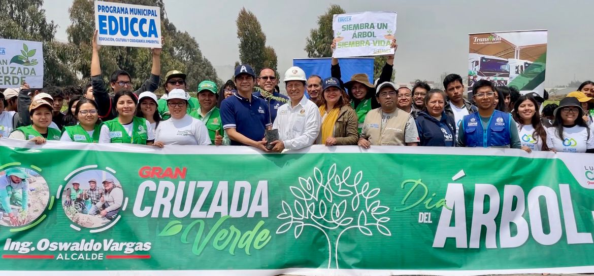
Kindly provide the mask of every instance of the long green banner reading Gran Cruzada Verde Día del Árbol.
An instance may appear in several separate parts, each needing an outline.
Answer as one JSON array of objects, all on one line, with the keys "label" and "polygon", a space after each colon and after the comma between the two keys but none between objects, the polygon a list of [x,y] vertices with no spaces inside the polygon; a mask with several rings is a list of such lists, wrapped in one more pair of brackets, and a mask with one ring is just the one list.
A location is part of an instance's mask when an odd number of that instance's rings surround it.
[{"label": "long green banner reading Gran Cruzada Verde D\u00eda del \u00c1rbol", "polygon": [[0,275],[594,272],[587,154],[0,145]]}]

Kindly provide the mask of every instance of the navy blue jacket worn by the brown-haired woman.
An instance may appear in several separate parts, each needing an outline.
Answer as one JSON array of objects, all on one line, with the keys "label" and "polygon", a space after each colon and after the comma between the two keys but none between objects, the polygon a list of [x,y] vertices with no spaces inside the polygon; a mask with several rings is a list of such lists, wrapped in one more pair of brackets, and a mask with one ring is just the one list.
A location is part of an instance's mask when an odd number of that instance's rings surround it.
[{"label": "navy blue jacket worn by the brown-haired woman", "polygon": [[429,115],[427,111],[419,112],[415,123],[419,131],[419,146],[456,146],[456,123],[453,117],[445,114],[445,111],[441,113],[440,121]]}]

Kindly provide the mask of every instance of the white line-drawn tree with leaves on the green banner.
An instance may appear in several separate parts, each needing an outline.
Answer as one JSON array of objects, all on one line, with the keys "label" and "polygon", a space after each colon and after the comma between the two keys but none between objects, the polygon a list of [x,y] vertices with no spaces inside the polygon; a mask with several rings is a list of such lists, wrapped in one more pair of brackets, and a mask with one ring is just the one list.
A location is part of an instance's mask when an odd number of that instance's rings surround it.
[{"label": "white line-drawn tree with leaves on the green banner", "polygon": [[[349,181],[350,173],[349,166],[342,175],[336,174],[334,163],[324,178],[320,169],[314,168],[314,179],[311,176],[307,179],[299,177],[301,187],[289,187],[295,200],[292,204],[289,204],[290,200],[289,203],[283,200],[283,212],[277,216],[277,219],[289,220],[279,226],[277,234],[285,233],[293,226],[295,239],[301,236],[306,226],[324,233],[328,241],[328,268],[332,263],[332,249],[336,268],[339,268],[340,236],[347,230],[355,228],[366,236],[372,236],[372,227],[381,235],[392,235],[390,229],[381,224],[390,220],[385,215],[390,208],[382,206],[379,200],[373,200],[380,193],[380,189],[370,190],[369,182],[361,184],[362,171],[357,172],[352,181]],[[350,214],[352,216],[349,216]],[[338,233],[335,241],[330,240],[328,236],[331,231]]]}]

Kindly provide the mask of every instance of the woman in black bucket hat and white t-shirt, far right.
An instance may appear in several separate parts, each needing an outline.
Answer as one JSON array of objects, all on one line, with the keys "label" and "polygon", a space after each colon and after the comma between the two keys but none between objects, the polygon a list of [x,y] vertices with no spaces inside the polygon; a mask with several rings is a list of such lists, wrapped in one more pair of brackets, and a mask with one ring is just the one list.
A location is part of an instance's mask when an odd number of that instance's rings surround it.
[{"label": "woman in black bucket hat and white t-shirt, far right", "polygon": [[555,109],[555,121],[547,129],[546,145],[554,152],[594,153],[594,133],[587,126],[582,105],[574,97],[565,97]]}]

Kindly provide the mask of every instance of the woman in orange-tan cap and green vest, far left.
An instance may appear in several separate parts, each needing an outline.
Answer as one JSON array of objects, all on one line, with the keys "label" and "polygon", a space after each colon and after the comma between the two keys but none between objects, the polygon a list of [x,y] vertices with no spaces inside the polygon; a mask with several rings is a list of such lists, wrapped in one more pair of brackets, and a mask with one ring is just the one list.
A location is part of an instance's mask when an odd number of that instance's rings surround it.
[{"label": "woman in orange-tan cap and green vest, far left", "polygon": [[12,130],[8,137],[29,140],[35,142],[36,145],[42,145],[46,140],[59,140],[60,131],[49,127],[49,124],[52,123],[52,110],[53,107],[48,101],[34,100],[29,106],[29,115],[33,124]]}]

